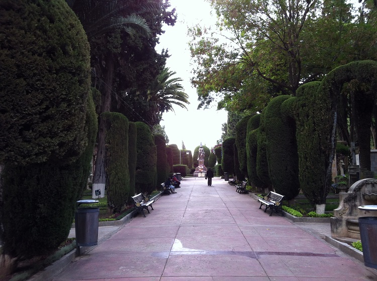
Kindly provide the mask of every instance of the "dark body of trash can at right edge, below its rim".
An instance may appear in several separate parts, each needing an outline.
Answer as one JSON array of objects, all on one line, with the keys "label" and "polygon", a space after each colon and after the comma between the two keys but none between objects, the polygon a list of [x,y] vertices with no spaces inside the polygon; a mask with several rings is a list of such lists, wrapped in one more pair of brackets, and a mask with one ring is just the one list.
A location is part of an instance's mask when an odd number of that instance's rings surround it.
[{"label": "dark body of trash can at right edge, below its rim", "polygon": [[377,217],[360,217],[359,228],[364,264],[377,269]]}]

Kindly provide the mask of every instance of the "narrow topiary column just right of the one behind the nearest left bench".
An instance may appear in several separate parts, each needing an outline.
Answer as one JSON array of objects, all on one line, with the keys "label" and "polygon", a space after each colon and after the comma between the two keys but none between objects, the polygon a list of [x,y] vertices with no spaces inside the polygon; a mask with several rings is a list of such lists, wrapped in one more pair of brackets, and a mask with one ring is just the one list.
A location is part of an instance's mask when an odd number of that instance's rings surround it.
[{"label": "narrow topiary column just right of the one behind the nearest left bench", "polygon": [[134,122],[128,122],[128,171],[130,175],[130,192],[128,196],[128,203],[132,204],[133,199],[131,196],[135,195],[135,176],[136,176],[136,141],[137,141],[137,128]]}]

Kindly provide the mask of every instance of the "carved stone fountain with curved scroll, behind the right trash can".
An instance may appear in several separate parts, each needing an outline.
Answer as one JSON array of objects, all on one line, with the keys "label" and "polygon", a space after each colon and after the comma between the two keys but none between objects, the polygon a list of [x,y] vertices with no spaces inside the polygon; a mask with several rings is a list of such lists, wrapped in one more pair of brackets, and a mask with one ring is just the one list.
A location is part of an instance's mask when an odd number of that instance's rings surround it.
[{"label": "carved stone fountain with curved scroll, behind the right trash can", "polygon": [[359,180],[348,192],[339,193],[339,206],[330,219],[332,238],[345,243],[360,240],[358,218],[376,216],[358,208],[363,205],[377,205],[377,179]]}]

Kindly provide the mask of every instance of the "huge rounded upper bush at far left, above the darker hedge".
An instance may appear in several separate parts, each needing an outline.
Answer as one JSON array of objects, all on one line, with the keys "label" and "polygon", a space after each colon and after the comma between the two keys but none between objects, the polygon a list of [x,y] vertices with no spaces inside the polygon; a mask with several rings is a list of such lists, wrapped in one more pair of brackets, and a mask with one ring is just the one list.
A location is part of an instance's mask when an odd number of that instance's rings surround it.
[{"label": "huge rounded upper bush at far left, above the darker hedge", "polygon": [[0,163],[77,160],[90,58],[76,15],[63,0],[4,0],[0,38]]}]

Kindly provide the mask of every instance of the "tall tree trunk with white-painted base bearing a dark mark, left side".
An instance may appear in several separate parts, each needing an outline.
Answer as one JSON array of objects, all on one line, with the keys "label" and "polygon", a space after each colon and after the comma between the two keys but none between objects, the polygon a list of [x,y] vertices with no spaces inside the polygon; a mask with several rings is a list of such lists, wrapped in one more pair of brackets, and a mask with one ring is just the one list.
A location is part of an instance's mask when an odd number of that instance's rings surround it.
[{"label": "tall tree trunk with white-painted base bearing a dark mark, left side", "polygon": [[[105,86],[102,92],[101,113],[110,111],[111,94],[114,75],[114,59],[108,55],[105,59]],[[96,198],[96,190],[101,191],[100,197],[105,197],[106,174],[105,174],[105,122],[100,116],[100,124],[97,135],[97,156],[95,172],[93,175],[92,198]]]}]

